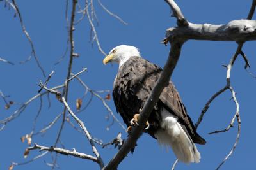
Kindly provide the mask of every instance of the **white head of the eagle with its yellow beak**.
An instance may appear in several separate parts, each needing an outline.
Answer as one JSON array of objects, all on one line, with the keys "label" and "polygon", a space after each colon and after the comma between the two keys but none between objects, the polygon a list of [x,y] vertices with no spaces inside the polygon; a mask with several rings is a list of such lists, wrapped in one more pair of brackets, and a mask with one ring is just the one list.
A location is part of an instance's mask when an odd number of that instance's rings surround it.
[{"label": "white head of the eagle with its yellow beak", "polygon": [[129,45],[120,45],[110,50],[109,54],[103,60],[103,63],[117,62],[120,68],[132,56],[141,57],[138,48]]}]

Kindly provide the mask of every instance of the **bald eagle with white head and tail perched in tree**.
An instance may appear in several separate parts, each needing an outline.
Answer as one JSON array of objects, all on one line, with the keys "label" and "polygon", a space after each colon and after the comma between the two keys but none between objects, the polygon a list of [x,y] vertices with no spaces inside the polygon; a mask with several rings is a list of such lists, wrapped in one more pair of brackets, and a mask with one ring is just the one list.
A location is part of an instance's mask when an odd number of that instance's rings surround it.
[{"label": "bald eagle with white head and tail perched in tree", "polygon": [[[117,62],[118,73],[113,84],[113,99],[127,127],[132,125],[135,113],[147,101],[162,69],[143,59],[138,48],[120,45],[113,48],[103,60],[104,64]],[[200,162],[195,143],[205,144],[197,134],[191,118],[172,81],[164,88],[159,101],[148,118],[145,129],[159,144],[170,146],[182,162]]]}]

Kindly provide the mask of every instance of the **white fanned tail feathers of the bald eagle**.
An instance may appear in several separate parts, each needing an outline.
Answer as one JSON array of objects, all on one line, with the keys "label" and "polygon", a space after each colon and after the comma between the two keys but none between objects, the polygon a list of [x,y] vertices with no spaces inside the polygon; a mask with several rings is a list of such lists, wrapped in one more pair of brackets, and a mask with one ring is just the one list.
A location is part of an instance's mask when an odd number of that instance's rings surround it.
[{"label": "white fanned tail feathers of the bald eagle", "polygon": [[161,145],[171,146],[177,159],[184,163],[200,162],[200,153],[190,136],[182,129],[177,118],[163,108],[161,129],[155,137]]}]

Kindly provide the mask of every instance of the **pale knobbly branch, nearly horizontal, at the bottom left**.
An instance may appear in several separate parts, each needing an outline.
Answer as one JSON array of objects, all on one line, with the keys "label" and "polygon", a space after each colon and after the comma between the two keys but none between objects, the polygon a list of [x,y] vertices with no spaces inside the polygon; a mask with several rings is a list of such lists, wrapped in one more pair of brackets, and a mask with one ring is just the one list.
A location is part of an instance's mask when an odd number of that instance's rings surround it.
[{"label": "pale knobbly branch, nearly horizontal, at the bottom left", "polygon": [[92,160],[93,162],[97,162],[99,163],[99,160],[97,159],[97,157],[93,157],[92,155],[87,155],[85,153],[79,153],[79,152],[76,152],[76,150],[65,150],[63,148],[56,148],[56,147],[45,147],[45,146],[40,146],[40,145],[37,145],[35,143],[34,146],[32,147],[29,147],[28,150],[47,150],[47,151],[51,151],[51,152],[56,152],[56,153],[60,153],[60,154],[63,154],[63,155],[72,155],[74,157],[79,157],[81,159],[89,159],[89,160]]}]

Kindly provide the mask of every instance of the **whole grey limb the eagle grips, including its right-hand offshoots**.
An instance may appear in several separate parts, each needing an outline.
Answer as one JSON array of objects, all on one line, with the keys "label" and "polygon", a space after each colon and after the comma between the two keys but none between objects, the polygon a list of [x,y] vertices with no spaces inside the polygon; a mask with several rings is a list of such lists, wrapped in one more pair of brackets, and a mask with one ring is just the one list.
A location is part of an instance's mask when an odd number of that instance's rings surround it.
[{"label": "whole grey limb the eagle grips, including its right-hand offshoots", "polygon": [[[255,10],[256,1],[253,0],[252,2],[252,7],[248,15],[248,20],[233,20],[225,25],[193,24],[191,22],[188,22],[188,20],[186,20],[186,18],[182,14],[179,6],[175,3],[175,1],[173,0],[164,0],[164,1],[166,1],[166,3],[168,3],[170,8],[172,9],[173,11],[172,16],[177,18],[177,27],[172,27],[170,29],[167,29],[166,38],[163,41],[163,43],[167,44],[169,42],[171,45],[168,60],[164,65],[163,72],[159,77],[159,80],[157,80],[157,83],[154,89],[152,90],[150,97],[148,97],[141,111],[140,118],[138,120],[139,125],[132,129],[131,135],[127,138],[124,145],[122,145],[122,148],[120,148],[120,150],[118,151],[118,153],[116,153],[113,159],[111,159],[110,162],[103,168],[104,170],[117,169],[118,164],[122,162],[122,160],[125,158],[127,153],[129,153],[129,151],[131,150],[131,148],[133,148],[136,145],[136,141],[140,137],[140,134],[143,131],[143,128],[145,127],[145,124],[148,120],[148,117],[154,105],[157,102],[157,99],[159,98],[164,87],[168,84],[168,81],[170,80],[170,76],[172,76],[173,70],[177,65],[177,62],[180,57],[180,51],[182,49],[182,45],[189,39],[210,40],[210,41],[236,41],[239,44],[236,53],[230,60],[230,64],[228,64],[227,66],[227,76],[226,76],[227,85],[225,85],[225,87],[221,89],[219,92],[214,94],[214,96],[212,96],[211,99],[205,105],[208,108],[211,101],[213,101],[218,95],[220,95],[225,90],[230,89],[230,91],[232,92],[232,98],[236,103],[236,113],[234,115],[234,118],[232,118],[230,127],[232,126],[235,118],[237,117],[238,132],[237,132],[236,142],[234,143],[232,150],[227,155],[227,157],[225,157],[225,159],[221,162],[221,164],[217,167],[217,169],[219,169],[220,166],[225,162],[225,160],[227,160],[228,157],[230,157],[230,155],[234,151],[234,148],[236,148],[236,145],[240,136],[241,120],[239,115],[239,103],[236,99],[236,92],[231,87],[231,83],[230,83],[230,71],[232,69],[234,62],[237,59],[237,55],[243,53],[242,52],[243,43],[245,41],[256,40],[256,30],[255,30],[256,21],[250,20]],[[246,58],[244,58],[244,60],[248,65],[248,60]],[[204,117],[204,113],[206,111],[207,109],[202,111],[202,114],[200,115],[198,122],[196,123],[196,128],[200,124],[200,120],[202,120],[202,118]],[[177,162],[175,163],[177,164]],[[174,167],[175,166],[173,166],[173,169]]]}]

